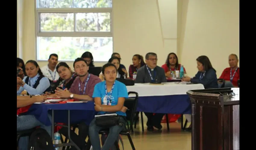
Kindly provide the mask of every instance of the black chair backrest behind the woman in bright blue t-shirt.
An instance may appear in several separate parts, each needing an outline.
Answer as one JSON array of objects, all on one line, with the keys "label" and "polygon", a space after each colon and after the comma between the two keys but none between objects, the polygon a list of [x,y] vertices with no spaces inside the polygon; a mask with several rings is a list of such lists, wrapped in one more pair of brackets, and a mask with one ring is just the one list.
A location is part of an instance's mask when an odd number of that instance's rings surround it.
[{"label": "black chair backrest behind the woman in bright blue t-shirt", "polygon": [[126,100],[129,100],[129,101],[133,101],[133,107],[132,107],[132,110],[131,110],[131,119],[130,119],[130,126],[128,125],[128,131],[132,130],[132,125],[133,125],[133,122],[135,121],[134,118],[135,118],[135,115],[136,115],[136,110],[137,110],[137,104],[138,104],[138,99],[139,99],[139,94],[137,92],[134,92],[134,91],[129,91],[128,92],[128,95],[130,94],[135,94],[135,98],[127,98]]}]

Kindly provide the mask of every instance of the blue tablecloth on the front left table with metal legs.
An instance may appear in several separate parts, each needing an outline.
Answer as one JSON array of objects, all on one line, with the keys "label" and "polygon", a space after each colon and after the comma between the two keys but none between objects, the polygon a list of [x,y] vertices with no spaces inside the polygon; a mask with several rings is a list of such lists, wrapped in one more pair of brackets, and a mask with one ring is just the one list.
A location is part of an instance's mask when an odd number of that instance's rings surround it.
[{"label": "blue tablecloth on the front left table with metal legs", "polygon": [[68,112],[70,110],[70,123],[85,122],[90,124],[96,112],[94,110],[94,102],[87,103],[66,103],[66,104],[33,104],[26,115],[34,115],[36,119],[44,125],[51,125],[48,113],[52,115],[54,110],[54,122],[67,123]]}]

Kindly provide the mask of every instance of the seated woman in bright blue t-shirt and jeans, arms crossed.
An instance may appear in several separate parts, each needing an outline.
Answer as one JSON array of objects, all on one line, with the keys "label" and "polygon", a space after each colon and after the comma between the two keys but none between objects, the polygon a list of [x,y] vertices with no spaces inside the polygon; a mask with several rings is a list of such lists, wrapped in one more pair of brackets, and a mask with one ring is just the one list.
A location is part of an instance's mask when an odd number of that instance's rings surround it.
[{"label": "seated woman in bright blue t-shirt and jeans, arms crossed", "polygon": [[103,127],[97,126],[95,119],[93,119],[89,125],[89,136],[94,150],[109,150],[119,136],[119,133],[126,127],[123,117],[126,117],[127,108],[124,107],[124,100],[128,98],[127,88],[122,82],[116,80],[117,68],[114,64],[105,64],[102,67],[102,73],[105,76],[105,81],[95,85],[92,95],[95,101],[95,110],[98,112],[98,115],[105,113],[118,114],[123,125],[115,125],[110,128],[108,137],[101,148],[99,131]]}]

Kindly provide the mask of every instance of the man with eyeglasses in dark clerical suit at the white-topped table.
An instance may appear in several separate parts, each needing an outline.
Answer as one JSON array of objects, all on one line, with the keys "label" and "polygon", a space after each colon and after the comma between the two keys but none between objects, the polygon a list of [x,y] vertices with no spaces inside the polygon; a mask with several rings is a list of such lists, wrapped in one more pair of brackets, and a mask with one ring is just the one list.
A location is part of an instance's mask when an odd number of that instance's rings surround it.
[{"label": "man with eyeglasses in dark clerical suit at the white-topped table", "polygon": [[[139,68],[135,83],[163,83],[167,82],[165,72],[162,67],[157,66],[157,55],[154,52],[148,52],[145,56],[146,65]],[[144,112],[145,113],[145,112]],[[161,130],[161,120],[164,116],[162,113],[145,113],[148,117],[147,130],[153,131],[154,127]]]}]

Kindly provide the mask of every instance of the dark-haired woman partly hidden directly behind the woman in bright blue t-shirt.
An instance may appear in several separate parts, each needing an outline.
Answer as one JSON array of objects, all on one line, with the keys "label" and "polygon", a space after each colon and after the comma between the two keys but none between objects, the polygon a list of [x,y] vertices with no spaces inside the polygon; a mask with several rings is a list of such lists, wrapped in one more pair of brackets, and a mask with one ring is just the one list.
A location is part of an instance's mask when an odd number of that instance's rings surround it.
[{"label": "dark-haired woman partly hidden directly behind the woman in bright blue t-shirt", "polygon": [[[122,68],[120,68],[120,58],[113,56],[108,60],[108,63],[114,64],[117,67],[117,78],[126,79],[126,74],[123,72]],[[99,78],[104,81],[104,75],[102,72],[99,74]]]}]

